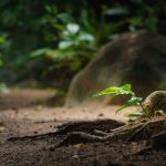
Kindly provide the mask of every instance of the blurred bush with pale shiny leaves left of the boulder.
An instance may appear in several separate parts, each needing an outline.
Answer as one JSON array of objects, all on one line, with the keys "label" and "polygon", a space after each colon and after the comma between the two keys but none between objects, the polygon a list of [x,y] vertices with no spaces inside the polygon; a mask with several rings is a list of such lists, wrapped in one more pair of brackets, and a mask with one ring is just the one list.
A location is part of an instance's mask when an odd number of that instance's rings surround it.
[{"label": "blurred bush with pale shiny leaves left of the boulder", "polygon": [[96,51],[93,34],[84,31],[76,23],[68,23],[61,31],[61,40],[56,49],[42,48],[33,51],[31,58],[46,56],[54,62],[70,61],[69,69],[77,71],[82,66],[82,60],[90,60]]}]

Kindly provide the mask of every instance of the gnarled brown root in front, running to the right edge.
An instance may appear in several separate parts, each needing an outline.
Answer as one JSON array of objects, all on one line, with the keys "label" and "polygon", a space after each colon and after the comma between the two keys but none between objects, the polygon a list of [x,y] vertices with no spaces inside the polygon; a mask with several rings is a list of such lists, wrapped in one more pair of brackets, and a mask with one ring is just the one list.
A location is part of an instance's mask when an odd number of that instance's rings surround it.
[{"label": "gnarled brown root in front, running to the right edge", "polygon": [[[118,127],[117,129],[114,129],[110,133],[105,133],[102,131],[94,131],[92,132],[93,134],[87,134],[84,132],[70,132],[62,142],[58,143],[54,147],[61,147],[77,143],[106,142],[115,139],[132,142],[149,138],[152,139],[152,145],[155,145],[155,142],[157,142],[157,137],[159,137],[159,139],[165,138],[166,132],[163,131],[166,131],[165,118],[148,121],[146,123],[137,123],[134,125],[124,125],[123,127]],[[156,135],[158,133],[160,133],[159,136]]]}]

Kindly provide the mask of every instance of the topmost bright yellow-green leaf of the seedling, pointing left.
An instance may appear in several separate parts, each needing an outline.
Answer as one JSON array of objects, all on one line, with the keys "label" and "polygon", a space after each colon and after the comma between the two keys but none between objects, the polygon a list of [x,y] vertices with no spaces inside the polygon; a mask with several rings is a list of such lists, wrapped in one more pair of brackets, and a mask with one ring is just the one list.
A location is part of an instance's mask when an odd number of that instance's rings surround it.
[{"label": "topmost bright yellow-green leaf of the seedling, pointing left", "polygon": [[120,94],[134,95],[134,92],[132,92],[132,90],[131,90],[131,84],[125,84],[125,85],[120,86],[120,87],[113,86],[113,87],[105,89],[98,93],[95,93],[93,96],[107,95],[107,94],[111,94],[111,95],[120,95]]}]

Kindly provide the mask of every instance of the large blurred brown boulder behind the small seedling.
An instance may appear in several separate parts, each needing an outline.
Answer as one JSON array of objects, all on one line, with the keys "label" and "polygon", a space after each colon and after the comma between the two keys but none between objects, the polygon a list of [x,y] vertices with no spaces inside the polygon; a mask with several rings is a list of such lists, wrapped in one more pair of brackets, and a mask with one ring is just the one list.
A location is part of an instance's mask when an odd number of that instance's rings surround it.
[{"label": "large blurred brown boulder behind the small seedling", "polygon": [[72,81],[65,105],[122,104],[122,97],[93,98],[107,86],[131,83],[145,97],[166,85],[166,38],[146,31],[125,33],[107,43]]}]

